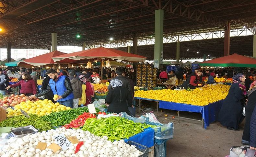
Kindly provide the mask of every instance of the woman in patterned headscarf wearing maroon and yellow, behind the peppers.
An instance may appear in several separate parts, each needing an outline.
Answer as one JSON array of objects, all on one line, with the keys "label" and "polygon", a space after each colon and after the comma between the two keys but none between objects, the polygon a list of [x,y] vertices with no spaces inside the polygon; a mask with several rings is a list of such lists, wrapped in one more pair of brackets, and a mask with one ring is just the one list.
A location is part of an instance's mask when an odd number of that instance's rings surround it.
[{"label": "woman in patterned headscarf wearing maroon and yellow, behind the peppers", "polygon": [[[81,99],[82,102],[81,103],[79,102],[79,104],[83,104],[84,106],[87,106],[88,104],[92,103],[91,102],[92,97],[94,97],[92,87],[88,79],[85,77],[85,75],[80,75],[79,79],[80,81],[82,81],[82,90],[83,90],[82,99]],[[85,91],[85,95],[84,95],[84,91]],[[86,98],[84,96],[86,96]]]}]

